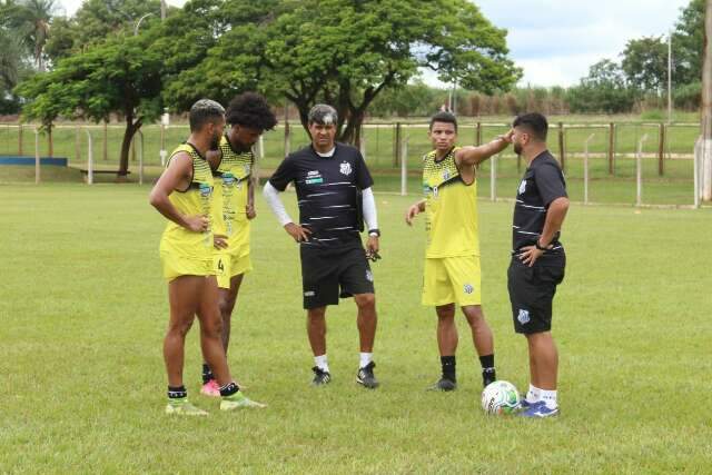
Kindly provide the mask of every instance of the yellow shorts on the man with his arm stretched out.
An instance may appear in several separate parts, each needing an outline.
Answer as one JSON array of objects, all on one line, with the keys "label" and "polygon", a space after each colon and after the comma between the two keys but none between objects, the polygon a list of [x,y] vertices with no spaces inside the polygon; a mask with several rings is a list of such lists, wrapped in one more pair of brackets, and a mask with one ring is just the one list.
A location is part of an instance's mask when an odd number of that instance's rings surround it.
[{"label": "yellow shorts on the man with his arm stretched out", "polygon": [[481,305],[479,256],[425,259],[423,305]]}]

